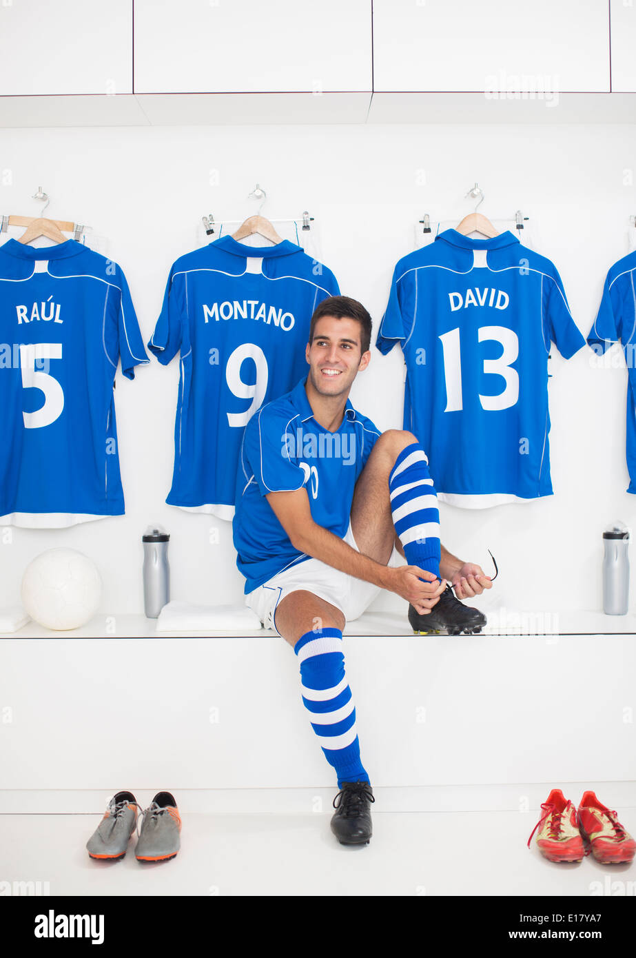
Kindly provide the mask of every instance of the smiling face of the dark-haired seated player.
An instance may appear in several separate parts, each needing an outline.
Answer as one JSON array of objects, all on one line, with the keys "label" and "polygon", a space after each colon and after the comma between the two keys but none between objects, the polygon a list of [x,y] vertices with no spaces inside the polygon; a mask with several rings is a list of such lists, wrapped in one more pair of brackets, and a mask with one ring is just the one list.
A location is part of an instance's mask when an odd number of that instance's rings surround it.
[{"label": "smiling face of the dark-haired seated player", "polygon": [[360,324],[347,316],[321,316],[317,321],[306,350],[309,377],[317,393],[349,393],[356,374],[367,368],[371,354],[361,353],[360,332]]}]

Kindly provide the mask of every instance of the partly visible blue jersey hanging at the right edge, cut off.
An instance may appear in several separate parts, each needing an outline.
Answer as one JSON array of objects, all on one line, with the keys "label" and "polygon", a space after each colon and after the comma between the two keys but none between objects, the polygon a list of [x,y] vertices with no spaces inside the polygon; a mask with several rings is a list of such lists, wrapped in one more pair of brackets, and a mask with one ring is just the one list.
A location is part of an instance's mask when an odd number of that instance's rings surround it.
[{"label": "partly visible blue jersey hanging at the right edge, cut off", "polygon": [[607,273],[601,306],[587,342],[602,355],[620,342],[627,366],[626,458],[629,472],[627,492],[636,493],[636,253],[614,263]]}]

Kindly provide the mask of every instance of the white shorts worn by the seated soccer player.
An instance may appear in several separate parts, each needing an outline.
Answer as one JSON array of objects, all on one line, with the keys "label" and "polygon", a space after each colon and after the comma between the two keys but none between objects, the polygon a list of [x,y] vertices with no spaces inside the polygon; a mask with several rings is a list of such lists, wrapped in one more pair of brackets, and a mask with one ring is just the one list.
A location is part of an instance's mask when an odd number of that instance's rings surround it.
[{"label": "white shorts worn by the seated soccer player", "polygon": [[[353,538],[351,522],[343,541],[356,552],[360,551]],[[395,547],[388,564],[404,564],[404,559]],[[304,559],[282,572],[277,572],[267,582],[259,585],[253,592],[249,592],[245,596],[245,604],[256,612],[263,628],[273,628],[278,632],[274,622],[276,606],[290,592],[297,592],[299,589],[313,592],[314,595],[335,605],[347,622],[362,615],[382,591],[379,585],[356,579],[319,559]]]}]

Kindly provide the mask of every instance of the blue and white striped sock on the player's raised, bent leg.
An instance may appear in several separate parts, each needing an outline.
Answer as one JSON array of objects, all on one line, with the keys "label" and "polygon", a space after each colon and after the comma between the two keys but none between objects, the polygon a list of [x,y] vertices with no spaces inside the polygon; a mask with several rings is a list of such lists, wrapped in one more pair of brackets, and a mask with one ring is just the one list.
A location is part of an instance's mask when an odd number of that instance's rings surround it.
[{"label": "blue and white striped sock on the player's raised, bent leg", "polygon": [[393,523],[409,565],[418,565],[440,578],[440,513],[437,493],[420,443],[398,455],[389,475]]}]

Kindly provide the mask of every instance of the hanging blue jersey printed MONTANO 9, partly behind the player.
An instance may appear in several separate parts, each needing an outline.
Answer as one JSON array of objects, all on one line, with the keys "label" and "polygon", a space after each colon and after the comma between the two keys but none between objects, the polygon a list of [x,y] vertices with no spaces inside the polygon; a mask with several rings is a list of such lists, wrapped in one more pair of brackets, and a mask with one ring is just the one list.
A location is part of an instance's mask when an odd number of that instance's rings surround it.
[{"label": "hanging blue jersey printed MONTANO 9, partly behind the player", "polygon": [[232,518],[243,429],[307,370],[311,314],[338,292],[287,240],[223,237],[173,264],[148,343],[164,364],[181,353],[170,505]]}]

